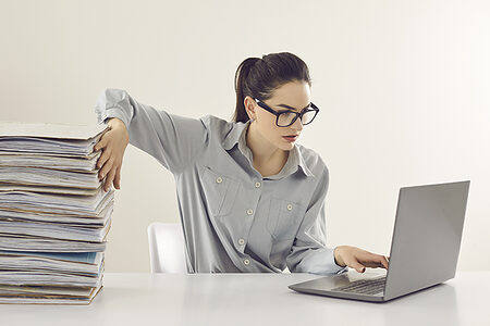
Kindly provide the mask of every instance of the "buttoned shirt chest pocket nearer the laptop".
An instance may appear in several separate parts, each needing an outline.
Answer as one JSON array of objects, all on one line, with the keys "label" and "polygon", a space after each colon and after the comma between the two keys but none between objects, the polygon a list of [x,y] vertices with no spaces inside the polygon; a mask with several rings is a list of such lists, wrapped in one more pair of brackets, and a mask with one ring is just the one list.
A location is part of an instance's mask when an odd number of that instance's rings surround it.
[{"label": "buttoned shirt chest pocket nearer the laptop", "polygon": [[290,200],[271,198],[267,228],[275,240],[291,240],[296,237],[298,225],[306,208]]}]

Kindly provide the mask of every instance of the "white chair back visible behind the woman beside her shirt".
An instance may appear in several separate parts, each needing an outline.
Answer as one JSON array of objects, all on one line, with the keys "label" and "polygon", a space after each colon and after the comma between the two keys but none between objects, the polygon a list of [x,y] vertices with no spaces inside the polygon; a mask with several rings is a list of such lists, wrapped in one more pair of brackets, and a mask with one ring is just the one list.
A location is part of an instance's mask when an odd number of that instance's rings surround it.
[{"label": "white chair back visible behind the woman beside her shirt", "polygon": [[151,273],[187,273],[182,225],[155,222],[148,226]]}]

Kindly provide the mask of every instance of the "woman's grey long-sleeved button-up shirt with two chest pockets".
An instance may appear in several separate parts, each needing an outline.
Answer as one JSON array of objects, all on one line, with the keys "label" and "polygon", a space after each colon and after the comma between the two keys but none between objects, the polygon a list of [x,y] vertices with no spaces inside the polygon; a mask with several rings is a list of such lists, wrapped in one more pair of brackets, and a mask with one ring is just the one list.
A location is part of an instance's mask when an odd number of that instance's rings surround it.
[{"label": "woman's grey long-sleeved button-up shirt with two chest pockets", "polygon": [[106,89],[98,123],[119,117],[130,143],[175,178],[189,273],[336,274],[326,247],[329,172],[315,151],[294,145],[280,173],[262,177],[246,145],[247,123],[183,117]]}]

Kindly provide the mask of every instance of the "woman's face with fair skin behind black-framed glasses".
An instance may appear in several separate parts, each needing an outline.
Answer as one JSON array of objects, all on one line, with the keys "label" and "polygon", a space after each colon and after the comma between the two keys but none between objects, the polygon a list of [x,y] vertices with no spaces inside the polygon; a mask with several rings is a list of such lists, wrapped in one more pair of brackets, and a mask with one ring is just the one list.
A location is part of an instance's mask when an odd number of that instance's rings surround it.
[{"label": "woman's face with fair skin behind black-framed glasses", "polygon": [[[295,112],[301,112],[310,103],[309,85],[303,80],[286,83],[277,88],[272,97],[264,101],[264,103],[269,105],[274,111],[292,110]],[[285,151],[293,149],[294,142],[297,140],[303,130],[303,125],[299,118],[296,118],[294,124],[291,126],[279,127],[275,124],[275,115],[260,108],[254,99],[247,97],[245,106],[254,108],[254,110],[248,110],[248,114],[254,117],[256,129],[260,136],[265,138],[265,140]],[[292,135],[296,136],[296,138],[284,138],[284,136]]]}]

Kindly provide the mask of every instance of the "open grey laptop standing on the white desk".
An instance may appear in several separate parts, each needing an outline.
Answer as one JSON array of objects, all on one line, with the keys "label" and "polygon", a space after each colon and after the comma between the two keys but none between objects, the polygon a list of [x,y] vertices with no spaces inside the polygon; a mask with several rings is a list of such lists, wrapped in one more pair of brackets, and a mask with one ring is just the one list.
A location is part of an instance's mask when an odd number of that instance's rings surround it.
[{"label": "open grey laptop standing on the white desk", "polygon": [[469,180],[400,189],[383,273],[347,273],[289,286],[302,293],[385,302],[454,278]]}]

